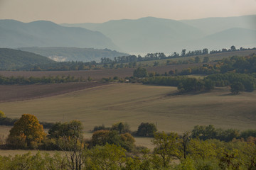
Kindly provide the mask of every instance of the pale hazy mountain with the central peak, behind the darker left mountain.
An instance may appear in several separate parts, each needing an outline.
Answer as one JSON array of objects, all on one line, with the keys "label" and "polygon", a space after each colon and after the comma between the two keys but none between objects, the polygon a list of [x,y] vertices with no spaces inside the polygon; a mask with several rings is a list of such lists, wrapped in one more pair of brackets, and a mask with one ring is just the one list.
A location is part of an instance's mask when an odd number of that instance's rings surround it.
[{"label": "pale hazy mountain with the central peak, behind the darker left mountain", "polygon": [[146,17],[106,23],[63,24],[98,30],[127,52],[166,52],[184,41],[201,38],[202,31],[179,21]]}]

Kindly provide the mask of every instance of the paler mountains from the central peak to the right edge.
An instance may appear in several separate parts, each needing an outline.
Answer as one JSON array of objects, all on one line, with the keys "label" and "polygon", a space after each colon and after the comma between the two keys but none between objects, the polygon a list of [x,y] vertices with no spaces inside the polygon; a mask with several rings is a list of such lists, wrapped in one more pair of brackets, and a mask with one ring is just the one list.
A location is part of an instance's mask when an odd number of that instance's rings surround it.
[{"label": "paler mountains from the central peak to the right edge", "polygon": [[[255,47],[256,42],[252,40],[256,37],[255,31],[252,31],[256,30],[255,20],[256,16],[203,18],[188,21],[146,17],[106,23],[62,25],[100,31],[127,52],[180,52],[184,48],[195,50],[206,47],[209,50],[215,50],[220,46],[228,48],[231,45]],[[241,29],[242,34],[234,29]],[[219,33],[223,38],[218,38]],[[215,41],[210,40],[208,36]]]}]

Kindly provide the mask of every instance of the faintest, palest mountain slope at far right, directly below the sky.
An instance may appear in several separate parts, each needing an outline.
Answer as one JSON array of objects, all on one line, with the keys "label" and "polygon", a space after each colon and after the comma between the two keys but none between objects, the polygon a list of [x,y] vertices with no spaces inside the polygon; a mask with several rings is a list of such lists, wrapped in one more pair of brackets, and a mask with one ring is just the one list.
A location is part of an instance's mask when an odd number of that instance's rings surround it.
[{"label": "faintest, palest mountain slope at far right, directly below the sky", "polygon": [[202,18],[195,20],[181,20],[181,22],[195,28],[200,28],[204,31],[204,33],[207,34],[218,33],[230,28],[246,28],[256,30],[256,15]]}]

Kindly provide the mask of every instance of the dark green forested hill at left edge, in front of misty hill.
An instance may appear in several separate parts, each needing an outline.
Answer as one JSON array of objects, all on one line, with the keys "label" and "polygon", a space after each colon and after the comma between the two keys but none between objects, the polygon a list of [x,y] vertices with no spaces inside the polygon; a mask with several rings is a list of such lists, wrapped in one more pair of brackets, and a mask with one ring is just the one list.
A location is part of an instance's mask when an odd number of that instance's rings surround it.
[{"label": "dark green forested hill at left edge, in front of misty hill", "polygon": [[26,65],[51,64],[55,61],[32,52],[24,52],[9,48],[0,48],[0,69],[11,70]]}]

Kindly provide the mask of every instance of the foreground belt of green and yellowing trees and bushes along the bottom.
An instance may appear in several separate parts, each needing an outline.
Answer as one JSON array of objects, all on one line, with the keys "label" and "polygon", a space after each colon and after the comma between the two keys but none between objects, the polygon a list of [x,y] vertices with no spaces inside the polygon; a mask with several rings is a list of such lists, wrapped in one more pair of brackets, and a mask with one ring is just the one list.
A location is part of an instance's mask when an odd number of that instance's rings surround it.
[{"label": "foreground belt of green and yellowing trees and bushes along the bottom", "polygon": [[96,130],[91,140],[85,140],[78,120],[55,123],[46,135],[34,115],[22,115],[10,130],[9,145],[35,149],[48,142],[63,154],[50,156],[38,152],[35,155],[0,156],[0,169],[256,168],[256,130],[239,133],[233,129],[215,129],[213,125],[197,125],[183,135],[154,132],[151,140],[154,149],[149,150],[135,147],[134,137],[125,132],[123,126],[123,123],[116,123],[112,130]]}]

